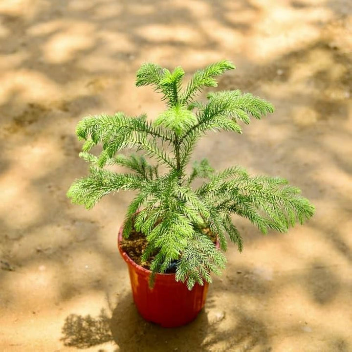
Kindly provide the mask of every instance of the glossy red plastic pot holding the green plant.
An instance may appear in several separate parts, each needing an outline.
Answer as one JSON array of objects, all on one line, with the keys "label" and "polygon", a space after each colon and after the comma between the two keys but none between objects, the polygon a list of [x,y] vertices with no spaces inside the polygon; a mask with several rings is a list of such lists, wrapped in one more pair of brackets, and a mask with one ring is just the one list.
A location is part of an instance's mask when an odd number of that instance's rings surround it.
[{"label": "glossy red plastic pot holding the green plant", "polygon": [[190,291],[186,284],[175,281],[175,274],[155,276],[154,287],[149,287],[151,271],[134,263],[121,249],[122,230],[118,234],[118,248],[127,263],[134,303],[147,321],[164,328],[175,328],[190,323],[204,307],[208,283],[196,284]]}]

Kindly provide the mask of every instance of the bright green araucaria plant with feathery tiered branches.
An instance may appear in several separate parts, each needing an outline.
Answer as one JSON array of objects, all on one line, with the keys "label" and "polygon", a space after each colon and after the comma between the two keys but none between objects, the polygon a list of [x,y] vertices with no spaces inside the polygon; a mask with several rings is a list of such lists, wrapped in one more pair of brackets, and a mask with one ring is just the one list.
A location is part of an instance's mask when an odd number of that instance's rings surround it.
[{"label": "bright green araucaria plant with feathery tiered branches", "polygon": [[[233,214],[250,220],[266,234],[268,229],[286,232],[314,213],[308,199],[283,178],[250,176],[240,166],[215,172],[206,159],[194,162],[187,173],[201,136],[210,131],[242,133],[241,125],[249,124],[251,116],[260,119],[274,110],[265,100],[240,90],[211,92],[205,102],[195,100],[204,87],[217,87],[214,77],[233,68],[229,61],[214,63],[198,70],[182,88],[181,67],[171,72],[143,64],[136,86],[153,86],[165,101],[165,111],[153,122],[145,114],[89,116],[76,130],[78,138],[86,141],[80,156],[90,163],[90,174],[73,182],[68,197],[90,209],[111,192],[137,190],[124,220],[124,238],[132,228],[143,234],[148,244],[142,261],[153,258],[153,274],[176,263],[176,281],[187,282],[189,289],[204,280],[211,282],[211,273],[218,274],[224,267],[227,238],[242,251]],[[89,154],[98,144],[102,152]],[[149,161],[141,153],[117,154],[126,149],[143,151]],[[153,159],[155,164],[150,163]],[[112,164],[132,172],[105,168]],[[160,164],[165,166],[163,174],[158,171]],[[203,179],[198,188],[192,186],[196,178]]]}]

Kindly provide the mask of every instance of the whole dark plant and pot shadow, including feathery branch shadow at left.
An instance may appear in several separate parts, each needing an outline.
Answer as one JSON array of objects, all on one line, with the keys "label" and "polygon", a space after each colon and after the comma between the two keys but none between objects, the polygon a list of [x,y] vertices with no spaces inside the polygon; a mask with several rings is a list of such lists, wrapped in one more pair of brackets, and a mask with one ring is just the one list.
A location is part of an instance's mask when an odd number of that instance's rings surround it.
[{"label": "whole dark plant and pot shadow, including feathery branch shadow at left", "polygon": [[138,314],[129,293],[119,297],[111,317],[104,309],[95,318],[90,315],[67,316],[61,340],[65,346],[77,349],[115,342],[119,352],[210,352],[228,351],[235,346],[242,347],[243,351],[254,348],[259,348],[261,352],[271,351],[268,334],[261,321],[243,310],[232,309],[227,313],[236,315],[237,323],[229,327],[226,312],[217,311],[215,307],[216,297],[209,297],[206,307],[190,324],[162,328],[145,321]]}]

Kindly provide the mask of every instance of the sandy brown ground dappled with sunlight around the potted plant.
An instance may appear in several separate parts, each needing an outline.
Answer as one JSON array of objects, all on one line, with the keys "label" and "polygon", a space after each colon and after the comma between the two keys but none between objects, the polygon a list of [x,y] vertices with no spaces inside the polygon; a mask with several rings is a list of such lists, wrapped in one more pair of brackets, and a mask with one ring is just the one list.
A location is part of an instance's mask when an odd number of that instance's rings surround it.
[{"label": "sandy brown ground dappled with sunlight around the potted plant", "polygon": [[[224,58],[237,70],[219,87],[276,112],[195,158],[284,176],[317,211],[265,238],[237,220],[244,253],[230,247],[195,322],[163,330],[138,316],[116,249],[132,194],[66,199],[87,173],[74,128],[162,110],[134,87],[142,62],[191,74]],[[0,351],[351,352],[351,72],[350,0],[1,0]]]}]

